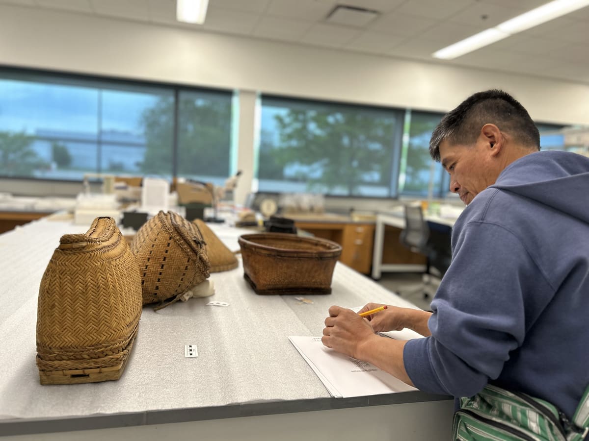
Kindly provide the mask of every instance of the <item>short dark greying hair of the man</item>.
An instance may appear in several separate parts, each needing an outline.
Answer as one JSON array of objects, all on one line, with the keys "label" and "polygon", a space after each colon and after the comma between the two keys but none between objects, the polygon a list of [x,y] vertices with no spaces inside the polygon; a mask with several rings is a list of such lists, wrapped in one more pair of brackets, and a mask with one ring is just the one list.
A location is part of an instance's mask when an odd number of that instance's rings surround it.
[{"label": "short dark greying hair of the man", "polygon": [[540,132],[524,106],[509,93],[491,89],[469,96],[446,113],[432,132],[429,154],[439,162],[439,147],[444,140],[452,145],[471,145],[487,123],[509,133],[521,145],[540,150]]}]

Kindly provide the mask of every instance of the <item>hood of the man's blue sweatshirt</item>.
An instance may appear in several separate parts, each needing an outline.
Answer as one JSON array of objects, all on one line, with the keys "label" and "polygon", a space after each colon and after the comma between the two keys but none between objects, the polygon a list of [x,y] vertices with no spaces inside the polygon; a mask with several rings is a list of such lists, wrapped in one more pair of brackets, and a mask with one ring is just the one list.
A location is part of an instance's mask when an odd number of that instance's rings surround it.
[{"label": "hood of the man's blue sweatshirt", "polygon": [[511,163],[489,188],[515,193],[589,223],[589,158],[536,152]]}]

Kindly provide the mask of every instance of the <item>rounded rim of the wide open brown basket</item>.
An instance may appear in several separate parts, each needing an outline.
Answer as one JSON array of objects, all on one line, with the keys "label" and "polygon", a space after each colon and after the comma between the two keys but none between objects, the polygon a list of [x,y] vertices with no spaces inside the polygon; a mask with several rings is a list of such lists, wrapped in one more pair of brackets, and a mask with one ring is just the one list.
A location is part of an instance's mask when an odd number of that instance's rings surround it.
[{"label": "rounded rim of the wide open brown basket", "polygon": [[[256,238],[275,238],[275,239],[284,239],[285,242],[307,242],[313,244],[322,244],[329,246],[329,249],[323,250],[305,250],[305,249],[294,249],[294,248],[276,248],[274,246],[263,245],[262,243],[255,242],[252,239]],[[309,238],[306,236],[297,236],[290,233],[251,233],[251,234],[244,234],[239,236],[237,239],[240,247],[242,249],[250,249],[257,252],[265,252],[265,253],[272,253],[274,255],[286,255],[286,256],[301,256],[301,255],[308,255],[308,256],[317,256],[320,255],[322,257],[335,257],[339,256],[342,252],[342,246],[339,243],[333,242],[333,240],[323,239],[323,238]]]}]

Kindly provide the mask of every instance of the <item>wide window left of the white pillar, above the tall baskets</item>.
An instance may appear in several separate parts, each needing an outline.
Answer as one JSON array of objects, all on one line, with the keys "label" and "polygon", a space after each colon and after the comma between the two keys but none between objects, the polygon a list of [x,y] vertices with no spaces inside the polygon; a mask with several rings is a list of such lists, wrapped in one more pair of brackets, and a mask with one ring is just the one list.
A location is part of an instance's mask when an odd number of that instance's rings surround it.
[{"label": "wide window left of the white pillar, above the tall baskets", "polygon": [[0,176],[224,181],[230,134],[230,92],[0,70]]}]

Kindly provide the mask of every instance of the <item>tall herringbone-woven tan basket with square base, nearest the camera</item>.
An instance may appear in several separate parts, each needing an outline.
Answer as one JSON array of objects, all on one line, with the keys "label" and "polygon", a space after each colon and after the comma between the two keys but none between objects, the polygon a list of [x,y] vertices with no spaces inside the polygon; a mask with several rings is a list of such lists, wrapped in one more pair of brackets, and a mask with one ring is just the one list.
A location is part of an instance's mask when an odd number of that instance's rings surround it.
[{"label": "tall herringbone-woven tan basket with square base, nearest the camera", "polygon": [[116,380],[141,316],[137,262],[112,218],[62,236],[41,279],[37,366],[41,384]]}]

